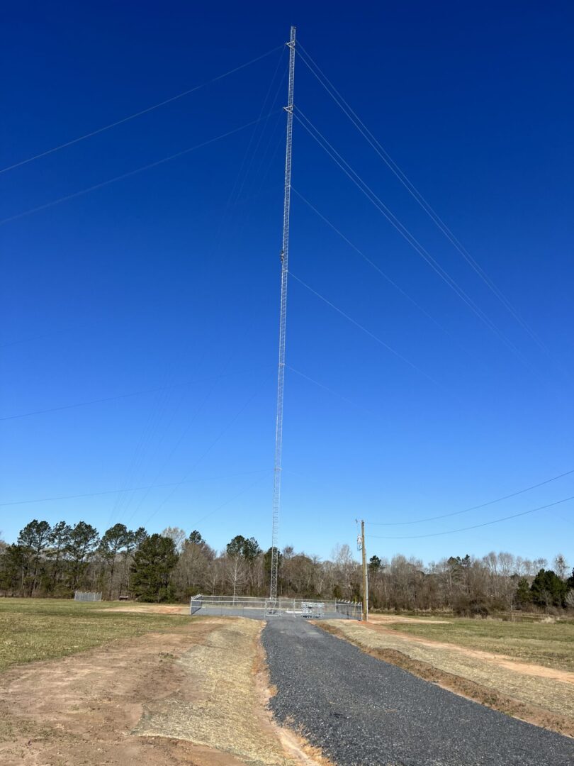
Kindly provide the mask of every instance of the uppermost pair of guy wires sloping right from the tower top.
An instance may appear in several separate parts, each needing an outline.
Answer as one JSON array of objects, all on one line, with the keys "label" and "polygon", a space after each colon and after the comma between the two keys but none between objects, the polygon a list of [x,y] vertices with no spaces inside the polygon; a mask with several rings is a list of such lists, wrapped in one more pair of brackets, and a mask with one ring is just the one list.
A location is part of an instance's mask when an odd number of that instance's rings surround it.
[{"label": "uppermost pair of guy wires sloping right from the tower top", "polygon": [[[300,51],[303,51],[303,54],[301,54]],[[507,299],[506,296],[504,296],[504,293],[497,287],[497,285],[491,280],[490,277],[488,277],[488,274],[484,271],[484,269],[481,267],[480,264],[471,256],[471,254],[468,252],[468,250],[464,247],[464,245],[461,244],[460,241],[458,241],[457,237],[455,237],[455,234],[452,233],[452,231],[448,228],[447,224],[445,224],[444,221],[442,221],[442,218],[440,218],[439,214],[432,208],[430,203],[422,196],[421,192],[416,188],[416,186],[413,184],[413,182],[408,178],[405,172],[399,167],[399,165],[396,164],[396,162],[393,160],[393,158],[390,156],[388,152],[386,152],[386,149],[380,144],[378,139],[373,136],[373,133],[370,132],[370,130],[367,128],[367,126],[364,124],[364,122],[360,119],[360,117],[357,115],[357,113],[349,106],[347,101],[344,100],[344,98],[341,96],[341,93],[338,92],[338,90],[334,87],[333,83],[331,83],[331,80],[328,79],[328,77],[325,75],[324,72],[321,71],[321,69],[318,67],[318,64],[313,61],[311,56],[308,54],[308,51],[305,51],[305,48],[302,45],[299,45],[299,57],[301,57],[301,60],[305,64],[306,67],[308,67],[308,70],[311,71],[311,74],[313,74],[319,83],[321,83],[322,87],[325,88],[326,92],[331,96],[331,98],[334,100],[334,102],[339,106],[341,111],[344,113],[345,116],[353,123],[353,125],[357,128],[359,133],[364,137],[364,139],[367,140],[367,142],[370,144],[370,146],[377,152],[377,155],[380,156],[380,159],[383,160],[383,162],[386,164],[386,166],[390,169],[391,172],[393,172],[393,175],[396,176],[396,178],[400,181],[400,183],[406,188],[407,191],[409,191],[409,194],[416,200],[416,202],[420,205],[422,210],[426,212],[426,214],[429,216],[429,218],[432,220],[432,222],[436,225],[437,228],[442,232],[442,234],[445,235],[445,237],[448,239],[448,241],[452,244],[453,247],[455,247],[455,250],[458,250],[458,253],[461,254],[461,256],[467,261],[467,263],[471,266],[471,268],[475,271],[475,273],[478,274],[478,277],[481,278],[481,280],[488,286],[488,289],[491,290],[492,293],[494,293],[494,296],[497,297],[497,299],[502,303],[505,309],[516,319],[516,321],[520,324],[520,326],[526,330],[526,332],[530,335],[530,337],[536,342],[537,345],[540,346],[541,349],[547,354],[550,355],[549,350],[547,349],[546,345],[543,344],[543,342],[536,336],[536,333],[533,331],[533,329],[528,326],[527,322],[525,322],[522,317],[517,313],[517,310],[514,308],[512,303],[510,303],[510,300]],[[308,58],[309,61],[305,60],[305,57]],[[311,62],[311,63],[309,63]],[[312,64],[312,66],[311,66]],[[314,68],[315,67],[315,70]],[[322,78],[322,79],[321,79]]]}]

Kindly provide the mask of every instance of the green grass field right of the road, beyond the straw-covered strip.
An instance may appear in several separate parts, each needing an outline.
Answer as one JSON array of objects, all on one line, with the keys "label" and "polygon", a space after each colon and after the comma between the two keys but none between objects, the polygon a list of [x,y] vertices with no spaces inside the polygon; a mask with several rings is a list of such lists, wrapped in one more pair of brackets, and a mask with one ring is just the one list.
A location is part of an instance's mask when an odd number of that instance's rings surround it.
[{"label": "green grass field right of the road, beyond the straw-covered strip", "polygon": [[459,647],[507,654],[527,663],[574,671],[574,620],[541,623],[449,619],[444,624],[395,623],[386,627]]}]

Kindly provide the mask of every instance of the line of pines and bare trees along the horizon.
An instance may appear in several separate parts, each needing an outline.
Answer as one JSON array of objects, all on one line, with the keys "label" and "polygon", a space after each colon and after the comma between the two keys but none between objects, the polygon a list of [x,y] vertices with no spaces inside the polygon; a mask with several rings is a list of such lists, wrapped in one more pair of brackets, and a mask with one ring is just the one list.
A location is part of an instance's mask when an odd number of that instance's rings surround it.
[{"label": "line of pines and bare trees along the horizon", "polygon": [[[0,542],[0,592],[30,597],[71,597],[96,591],[113,600],[185,601],[191,595],[265,596],[272,549],[236,535],[217,552],[194,530],[178,527],[149,535],[115,524],[103,535],[80,521],[70,525],[33,519],[12,545]],[[370,607],[383,610],[452,610],[456,614],[574,608],[574,570],[562,554],[553,568],[491,552],[451,556],[429,565],[395,555],[370,557]],[[321,560],[288,545],[279,552],[279,594],[285,597],[360,601],[362,572],[348,545]]]}]

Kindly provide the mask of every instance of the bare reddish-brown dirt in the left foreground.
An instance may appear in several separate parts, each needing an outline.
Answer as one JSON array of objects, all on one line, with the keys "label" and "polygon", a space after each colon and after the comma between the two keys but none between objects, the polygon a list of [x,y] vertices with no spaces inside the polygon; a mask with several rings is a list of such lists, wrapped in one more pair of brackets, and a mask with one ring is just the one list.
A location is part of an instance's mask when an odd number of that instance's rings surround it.
[{"label": "bare reddish-brown dirt in the left foreground", "polygon": [[[191,626],[190,626],[191,627]],[[24,766],[235,766],[227,753],[130,732],[145,704],[184,683],[177,658],[213,629],[148,633],[0,676],[0,764]]]}]

